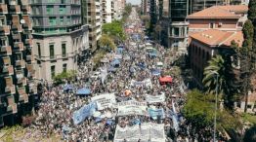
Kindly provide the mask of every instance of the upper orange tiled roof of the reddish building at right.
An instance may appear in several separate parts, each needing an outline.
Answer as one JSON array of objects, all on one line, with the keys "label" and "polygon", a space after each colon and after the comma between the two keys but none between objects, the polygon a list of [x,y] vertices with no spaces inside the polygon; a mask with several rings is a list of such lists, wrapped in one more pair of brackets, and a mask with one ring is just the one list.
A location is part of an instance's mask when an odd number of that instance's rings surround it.
[{"label": "upper orange tiled roof of the reddish building at right", "polygon": [[189,15],[187,18],[240,18],[235,13],[246,13],[247,6],[213,6],[197,13]]}]

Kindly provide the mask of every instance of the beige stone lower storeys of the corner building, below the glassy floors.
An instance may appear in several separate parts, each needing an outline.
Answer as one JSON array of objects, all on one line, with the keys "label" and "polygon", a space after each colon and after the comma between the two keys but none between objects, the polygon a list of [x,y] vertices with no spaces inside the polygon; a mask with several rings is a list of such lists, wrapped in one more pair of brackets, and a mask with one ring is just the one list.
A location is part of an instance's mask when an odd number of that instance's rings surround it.
[{"label": "beige stone lower storeys of the corner building, below the glassy floors", "polygon": [[62,35],[34,35],[36,78],[52,81],[57,74],[77,70],[77,57],[89,48],[88,26]]}]

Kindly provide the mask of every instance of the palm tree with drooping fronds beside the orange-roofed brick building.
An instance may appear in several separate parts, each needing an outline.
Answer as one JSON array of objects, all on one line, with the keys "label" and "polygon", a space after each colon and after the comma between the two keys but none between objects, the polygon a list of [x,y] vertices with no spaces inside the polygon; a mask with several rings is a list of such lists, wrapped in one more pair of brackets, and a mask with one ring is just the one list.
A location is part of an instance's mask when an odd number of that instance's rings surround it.
[{"label": "palm tree with drooping fronds beside the orange-roofed brick building", "polygon": [[235,95],[238,91],[233,69],[230,55],[216,55],[208,61],[202,80],[207,93],[216,93],[216,87],[218,87],[218,94],[224,99],[224,103],[229,109],[233,109]]}]

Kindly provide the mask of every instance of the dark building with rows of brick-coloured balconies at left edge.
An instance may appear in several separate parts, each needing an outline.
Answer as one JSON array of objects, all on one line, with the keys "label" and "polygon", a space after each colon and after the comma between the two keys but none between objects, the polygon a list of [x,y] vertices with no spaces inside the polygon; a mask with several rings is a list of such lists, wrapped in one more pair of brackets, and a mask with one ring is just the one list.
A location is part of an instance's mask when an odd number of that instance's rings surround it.
[{"label": "dark building with rows of brick-coloured balconies at left edge", "polygon": [[28,0],[0,1],[0,127],[21,122],[37,88]]}]

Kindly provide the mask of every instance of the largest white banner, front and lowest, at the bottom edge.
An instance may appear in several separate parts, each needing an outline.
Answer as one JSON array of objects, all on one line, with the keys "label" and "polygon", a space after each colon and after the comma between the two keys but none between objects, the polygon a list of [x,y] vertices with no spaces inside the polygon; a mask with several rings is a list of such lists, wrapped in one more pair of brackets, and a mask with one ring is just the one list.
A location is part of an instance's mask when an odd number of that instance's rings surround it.
[{"label": "largest white banner, front and lowest, at the bottom edge", "polygon": [[116,125],[114,142],[136,142],[141,139],[142,142],[164,142],[164,124],[136,124],[133,126],[120,127]]}]

